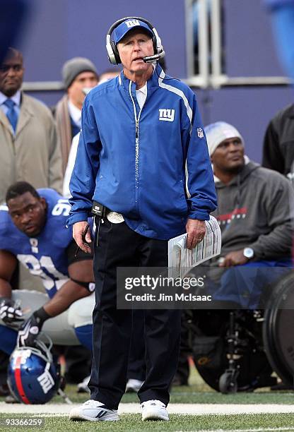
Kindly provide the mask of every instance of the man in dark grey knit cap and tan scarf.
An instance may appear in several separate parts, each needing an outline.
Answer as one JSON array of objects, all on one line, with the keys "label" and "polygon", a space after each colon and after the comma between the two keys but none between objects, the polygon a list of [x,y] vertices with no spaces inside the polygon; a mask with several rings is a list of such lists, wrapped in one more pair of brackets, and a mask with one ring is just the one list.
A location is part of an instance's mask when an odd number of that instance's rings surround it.
[{"label": "man in dark grey knit cap and tan scarf", "polygon": [[73,57],[62,67],[62,80],[66,95],[57,102],[53,114],[57,123],[63,172],[65,172],[71,141],[81,129],[83,100],[90,89],[98,84],[97,69],[89,59]]}]

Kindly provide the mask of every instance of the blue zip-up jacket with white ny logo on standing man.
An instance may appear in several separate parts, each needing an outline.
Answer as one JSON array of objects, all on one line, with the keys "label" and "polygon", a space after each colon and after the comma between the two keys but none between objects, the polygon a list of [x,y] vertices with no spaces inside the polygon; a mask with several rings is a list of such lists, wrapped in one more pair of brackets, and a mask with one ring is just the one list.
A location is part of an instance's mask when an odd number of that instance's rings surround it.
[{"label": "blue zip-up jacket with white ny logo on standing man", "polygon": [[155,239],[183,234],[188,217],[208,220],[216,191],[194,92],[160,66],[147,82],[143,109],[123,72],[93,88],[70,191],[69,224],[87,220],[93,200]]}]

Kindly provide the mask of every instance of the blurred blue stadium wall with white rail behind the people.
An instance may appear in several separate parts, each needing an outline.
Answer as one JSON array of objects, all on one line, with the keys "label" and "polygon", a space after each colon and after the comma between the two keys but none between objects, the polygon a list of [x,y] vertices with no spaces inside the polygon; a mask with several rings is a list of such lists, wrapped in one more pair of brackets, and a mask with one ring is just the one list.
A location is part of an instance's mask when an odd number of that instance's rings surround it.
[{"label": "blurred blue stadium wall with white rail behind the people", "polygon": [[155,25],[167,73],[194,88],[204,124],[234,124],[253,160],[261,160],[269,119],[293,102],[262,0],[29,1],[30,16],[17,44],[25,59],[23,88],[46,104],[61,97],[66,59],[86,56],[100,73],[110,67],[107,30],[133,15]]}]

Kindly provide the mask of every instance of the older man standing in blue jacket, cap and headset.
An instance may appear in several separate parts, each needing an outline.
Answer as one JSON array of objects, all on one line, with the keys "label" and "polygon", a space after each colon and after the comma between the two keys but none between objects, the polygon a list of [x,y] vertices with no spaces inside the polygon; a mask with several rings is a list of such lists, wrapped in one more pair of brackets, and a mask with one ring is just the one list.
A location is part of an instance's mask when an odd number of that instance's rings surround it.
[{"label": "older man standing in blue jacket, cap and headset", "polygon": [[[187,247],[194,248],[216,208],[196,96],[156,63],[165,54],[158,32],[143,18],[122,18],[107,34],[107,54],[112,64],[122,63],[123,71],[86,97],[70,184],[69,224],[83,251],[90,241],[86,220],[91,209],[97,224],[91,395],[72,410],[73,420],[118,419],[131,311],[117,309],[117,268],[166,267],[168,239],[187,232]],[[168,420],[180,311],[148,309],[143,316],[142,419]]]}]

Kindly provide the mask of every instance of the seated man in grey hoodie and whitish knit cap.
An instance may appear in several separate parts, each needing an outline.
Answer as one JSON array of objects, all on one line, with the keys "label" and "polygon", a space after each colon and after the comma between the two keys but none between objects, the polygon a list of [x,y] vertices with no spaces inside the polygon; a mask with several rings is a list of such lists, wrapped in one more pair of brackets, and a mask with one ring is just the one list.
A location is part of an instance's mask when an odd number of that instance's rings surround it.
[{"label": "seated man in grey hoodie and whitish knit cap", "polygon": [[221,258],[213,265],[243,266],[220,271],[215,299],[256,308],[264,284],[291,265],[293,191],[281,174],[249,161],[234,126],[218,121],[205,132],[218,196],[214,216],[222,232]]}]

